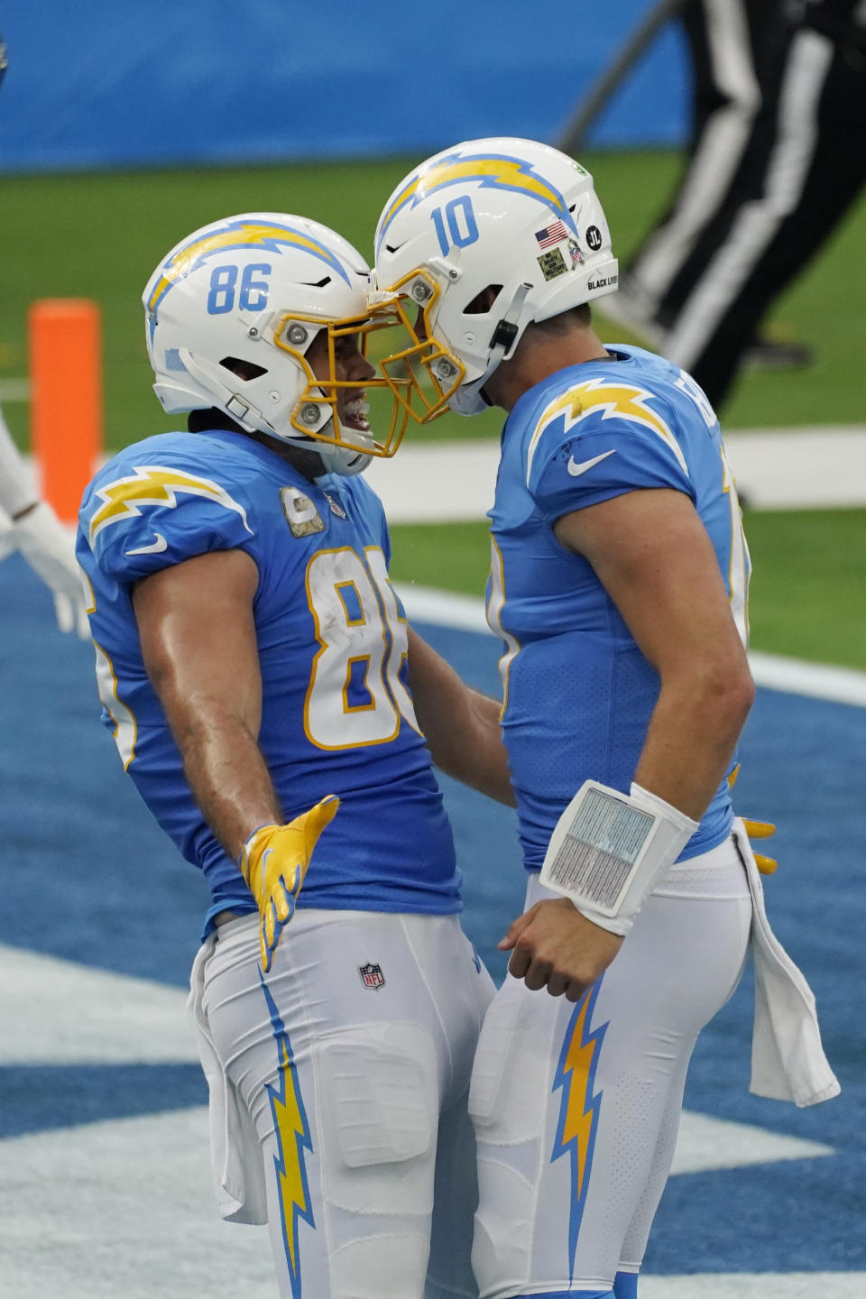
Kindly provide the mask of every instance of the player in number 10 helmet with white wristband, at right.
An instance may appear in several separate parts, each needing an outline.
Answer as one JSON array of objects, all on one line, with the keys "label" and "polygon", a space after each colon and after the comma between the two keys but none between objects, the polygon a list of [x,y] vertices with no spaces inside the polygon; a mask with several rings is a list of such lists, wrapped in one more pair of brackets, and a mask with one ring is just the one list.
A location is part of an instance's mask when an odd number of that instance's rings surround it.
[{"label": "player in number 10 helmet with white wristband, at right", "polygon": [[558,151],[422,162],[382,212],[374,284],[401,409],[508,416],[487,609],[528,887],[470,1091],[479,1289],[627,1299],[752,922],[726,778],[753,699],[734,479],[689,375],[595,334],[617,261]]}]

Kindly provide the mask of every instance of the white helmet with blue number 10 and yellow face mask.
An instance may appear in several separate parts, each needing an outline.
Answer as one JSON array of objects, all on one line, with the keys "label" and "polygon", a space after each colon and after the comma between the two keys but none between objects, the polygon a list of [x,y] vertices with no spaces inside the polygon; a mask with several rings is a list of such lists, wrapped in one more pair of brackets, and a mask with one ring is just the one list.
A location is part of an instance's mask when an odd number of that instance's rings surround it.
[{"label": "white helmet with blue number 10 and yellow face mask", "polygon": [[374,313],[396,313],[410,338],[382,372],[396,404],[417,399],[410,413],[427,423],[447,407],[483,410],[480,390],[526,326],[613,294],[617,260],[578,162],[535,140],[466,140],[427,158],[388,199],[373,286]]}]

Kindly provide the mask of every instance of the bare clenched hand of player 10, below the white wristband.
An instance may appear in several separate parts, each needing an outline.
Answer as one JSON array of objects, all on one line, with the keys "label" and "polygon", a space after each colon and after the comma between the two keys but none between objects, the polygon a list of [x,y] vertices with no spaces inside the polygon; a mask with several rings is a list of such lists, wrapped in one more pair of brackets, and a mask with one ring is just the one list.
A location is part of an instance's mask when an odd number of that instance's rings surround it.
[{"label": "bare clenched hand of player 10, below the white wristband", "polygon": [[528,989],[547,987],[551,996],[579,1002],[622,947],[612,934],[582,916],[569,898],[536,902],[518,916],[499,948],[512,952],[509,974]]}]

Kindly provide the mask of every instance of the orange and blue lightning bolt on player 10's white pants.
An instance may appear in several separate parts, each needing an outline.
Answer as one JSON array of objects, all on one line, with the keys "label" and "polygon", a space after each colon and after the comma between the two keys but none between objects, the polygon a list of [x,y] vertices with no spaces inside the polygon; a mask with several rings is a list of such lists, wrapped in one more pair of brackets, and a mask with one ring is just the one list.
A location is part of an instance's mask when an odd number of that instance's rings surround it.
[{"label": "orange and blue lightning bolt on player 10's white pants", "polygon": [[560,1122],[551,1163],[561,1155],[571,1160],[571,1215],[569,1220],[569,1278],[574,1276],[580,1218],[589,1189],[589,1168],[599,1125],[601,1092],[593,1095],[596,1065],[608,1025],[589,1031],[601,979],[578,1002],[562,1043],[553,1089],[562,1089]]}]

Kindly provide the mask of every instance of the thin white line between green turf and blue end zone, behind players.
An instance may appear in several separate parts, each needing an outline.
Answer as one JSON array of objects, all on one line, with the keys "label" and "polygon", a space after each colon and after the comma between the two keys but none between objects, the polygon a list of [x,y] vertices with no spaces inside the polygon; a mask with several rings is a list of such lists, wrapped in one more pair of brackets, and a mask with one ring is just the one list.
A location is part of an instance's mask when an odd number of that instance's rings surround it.
[{"label": "thin white line between green turf and blue end zone, behind players", "polygon": [[[476,596],[436,591],[426,586],[397,586],[412,622],[430,622],[434,626],[492,635],[484,617],[484,601]],[[756,685],[767,690],[866,708],[866,672],[757,651],[749,655],[749,664]]]}]

